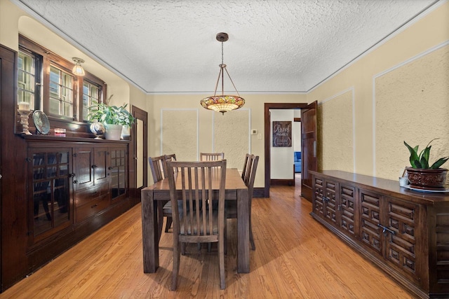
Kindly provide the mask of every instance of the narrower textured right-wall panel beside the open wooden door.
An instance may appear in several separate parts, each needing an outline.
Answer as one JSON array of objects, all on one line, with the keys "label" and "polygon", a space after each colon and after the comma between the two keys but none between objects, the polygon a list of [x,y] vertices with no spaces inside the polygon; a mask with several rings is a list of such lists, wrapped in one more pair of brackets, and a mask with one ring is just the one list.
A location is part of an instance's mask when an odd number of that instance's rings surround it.
[{"label": "narrower textured right-wall panel beside the open wooden door", "polygon": [[335,95],[318,106],[319,169],[354,172],[354,96],[352,90]]}]

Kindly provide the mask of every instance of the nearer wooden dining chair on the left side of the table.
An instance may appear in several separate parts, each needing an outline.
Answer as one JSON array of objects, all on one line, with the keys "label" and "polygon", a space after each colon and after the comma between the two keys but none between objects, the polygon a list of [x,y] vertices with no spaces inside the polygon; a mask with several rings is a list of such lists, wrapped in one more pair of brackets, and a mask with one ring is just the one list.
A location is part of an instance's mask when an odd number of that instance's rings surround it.
[{"label": "nearer wooden dining chair on the left side of the table", "polygon": [[[160,155],[159,157],[149,157],[148,162],[149,162],[149,168],[152,171],[153,182],[157,183],[158,181],[162,181],[163,179],[165,179],[166,172],[167,172],[166,171],[166,155]],[[168,203],[169,203],[169,201],[162,201],[162,200],[157,202],[157,221],[158,221],[158,228],[159,228],[159,239],[161,239],[161,235],[162,235],[163,217],[164,216],[167,217],[165,232],[168,232],[168,228],[170,228],[170,226],[167,227],[167,225],[171,225],[171,223],[172,223],[171,210],[168,210],[168,208],[170,208],[170,207],[167,207],[166,211],[164,212],[164,207]]]}]

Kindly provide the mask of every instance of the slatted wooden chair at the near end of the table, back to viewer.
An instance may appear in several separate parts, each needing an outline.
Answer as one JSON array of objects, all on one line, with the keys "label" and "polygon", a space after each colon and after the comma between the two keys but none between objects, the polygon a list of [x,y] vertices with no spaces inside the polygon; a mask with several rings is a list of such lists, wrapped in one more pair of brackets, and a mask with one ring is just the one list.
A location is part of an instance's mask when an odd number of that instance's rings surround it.
[{"label": "slatted wooden chair at the near end of the table, back to viewer", "polygon": [[[176,184],[174,168],[179,172]],[[181,247],[185,243],[218,243],[220,288],[226,288],[225,277],[225,182],[226,160],[207,162],[167,161],[168,183],[173,218],[173,274],[171,290],[177,288]],[[171,169],[171,170],[170,170]],[[216,179],[217,177],[217,179]],[[215,186],[215,183],[218,186]],[[218,188],[218,198],[213,198]],[[180,207],[182,200],[182,207]],[[218,209],[213,210],[213,200]],[[189,209],[189,207],[194,207]]]}]

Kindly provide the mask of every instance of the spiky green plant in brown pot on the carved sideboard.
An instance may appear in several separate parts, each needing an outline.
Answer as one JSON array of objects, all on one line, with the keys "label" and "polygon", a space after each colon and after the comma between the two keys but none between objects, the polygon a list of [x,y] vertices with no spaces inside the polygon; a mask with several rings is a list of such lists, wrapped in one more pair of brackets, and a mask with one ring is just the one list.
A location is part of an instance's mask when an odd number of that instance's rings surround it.
[{"label": "spiky green plant in brown pot on the carved sideboard", "polygon": [[418,153],[419,146],[412,147],[404,141],[404,144],[410,152],[409,160],[410,165],[412,165],[411,167],[406,167],[410,187],[427,190],[444,189],[448,169],[441,168],[441,165],[443,165],[449,157],[438,158],[436,162],[429,164],[430,144],[434,140],[435,139],[432,139],[420,153]]}]

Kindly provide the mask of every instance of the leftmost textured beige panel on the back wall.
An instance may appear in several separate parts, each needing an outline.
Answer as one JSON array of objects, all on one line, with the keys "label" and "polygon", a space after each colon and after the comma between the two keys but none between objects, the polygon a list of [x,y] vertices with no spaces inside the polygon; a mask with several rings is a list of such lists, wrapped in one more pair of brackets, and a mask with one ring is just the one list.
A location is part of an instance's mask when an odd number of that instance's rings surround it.
[{"label": "leftmost textured beige panel on the back wall", "polygon": [[[161,110],[161,153],[177,160],[198,160],[198,110]],[[182,150],[181,150],[182,149]]]}]

